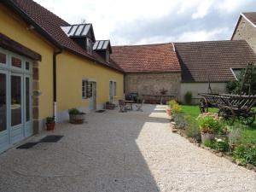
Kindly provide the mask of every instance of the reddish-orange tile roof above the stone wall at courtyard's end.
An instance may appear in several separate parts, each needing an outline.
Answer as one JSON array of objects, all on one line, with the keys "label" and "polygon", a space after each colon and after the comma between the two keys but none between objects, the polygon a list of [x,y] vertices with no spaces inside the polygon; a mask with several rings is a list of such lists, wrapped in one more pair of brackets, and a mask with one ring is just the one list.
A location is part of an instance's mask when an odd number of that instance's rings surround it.
[{"label": "reddish-orange tile roof above the stone wall at courtyard's end", "polygon": [[111,58],[126,73],[180,72],[172,44],[113,46]]}]

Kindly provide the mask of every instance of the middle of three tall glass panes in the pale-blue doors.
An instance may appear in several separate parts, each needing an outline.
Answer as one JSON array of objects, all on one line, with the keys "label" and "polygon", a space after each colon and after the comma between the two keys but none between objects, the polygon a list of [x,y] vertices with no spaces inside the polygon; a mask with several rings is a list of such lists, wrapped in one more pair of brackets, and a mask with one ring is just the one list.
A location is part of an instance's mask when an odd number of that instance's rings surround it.
[{"label": "middle of three tall glass panes in the pale-blue doors", "polygon": [[21,124],[21,78],[11,76],[11,125]]}]

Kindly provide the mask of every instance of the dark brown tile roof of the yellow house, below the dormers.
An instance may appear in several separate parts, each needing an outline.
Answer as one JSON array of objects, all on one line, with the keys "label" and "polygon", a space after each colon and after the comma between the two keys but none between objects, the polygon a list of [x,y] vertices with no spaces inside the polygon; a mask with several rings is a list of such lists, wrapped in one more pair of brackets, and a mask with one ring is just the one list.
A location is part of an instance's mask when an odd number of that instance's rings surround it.
[{"label": "dark brown tile roof of the yellow house, below the dormers", "polygon": [[88,54],[86,50],[82,49],[71,38],[68,38],[66,33],[61,29],[61,26],[70,26],[70,24],[51,13],[48,9],[44,9],[44,7],[38,3],[35,3],[32,0],[10,0],[6,2],[9,2],[7,4],[14,3],[14,6],[18,7],[18,9],[20,9],[26,16],[37,23],[44,32],[48,33],[53,41],[61,44],[63,49],[85,56],[92,61],[98,61],[100,64],[107,67],[122,71],[122,69],[120,69],[114,62],[105,62],[102,57],[96,53],[93,55]]}]

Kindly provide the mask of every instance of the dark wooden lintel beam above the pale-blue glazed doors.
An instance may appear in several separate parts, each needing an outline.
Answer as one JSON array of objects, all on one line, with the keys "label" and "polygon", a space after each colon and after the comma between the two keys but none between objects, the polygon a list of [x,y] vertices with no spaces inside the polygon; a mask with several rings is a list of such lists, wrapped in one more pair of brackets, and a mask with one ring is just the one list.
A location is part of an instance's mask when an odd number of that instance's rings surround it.
[{"label": "dark wooden lintel beam above the pale-blue glazed doors", "polygon": [[22,44],[19,44],[8,38],[7,36],[0,33],[0,47],[3,49],[8,49],[9,51],[15,52],[16,54],[26,56],[33,61],[42,61],[42,56],[32,49],[28,49]]}]

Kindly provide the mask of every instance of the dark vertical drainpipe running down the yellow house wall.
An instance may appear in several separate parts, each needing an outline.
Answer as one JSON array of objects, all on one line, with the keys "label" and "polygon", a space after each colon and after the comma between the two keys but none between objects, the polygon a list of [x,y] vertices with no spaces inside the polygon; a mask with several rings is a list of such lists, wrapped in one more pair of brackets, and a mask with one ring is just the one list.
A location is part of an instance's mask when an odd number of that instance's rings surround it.
[{"label": "dark vertical drainpipe running down the yellow house wall", "polygon": [[57,121],[57,69],[56,69],[56,58],[57,55],[61,54],[62,50],[55,51],[53,54],[53,105],[54,105],[54,116],[55,122]]}]

